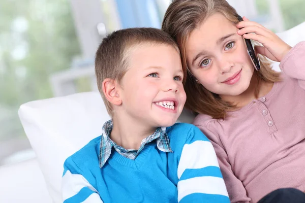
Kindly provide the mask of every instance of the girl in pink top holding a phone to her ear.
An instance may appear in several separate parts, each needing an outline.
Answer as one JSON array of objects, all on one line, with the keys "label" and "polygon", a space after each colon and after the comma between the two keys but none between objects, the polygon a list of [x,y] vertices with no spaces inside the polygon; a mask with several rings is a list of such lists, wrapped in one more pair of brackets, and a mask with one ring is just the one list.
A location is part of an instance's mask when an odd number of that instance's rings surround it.
[{"label": "girl in pink top holding a phone to her ear", "polygon": [[[257,202],[283,187],[305,190],[305,42],[291,48],[225,0],[176,0],[162,29],[181,51],[186,107],[219,158],[231,202]],[[257,54],[280,61],[282,73]],[[188,73],[187,73],[188,72]]]}]

